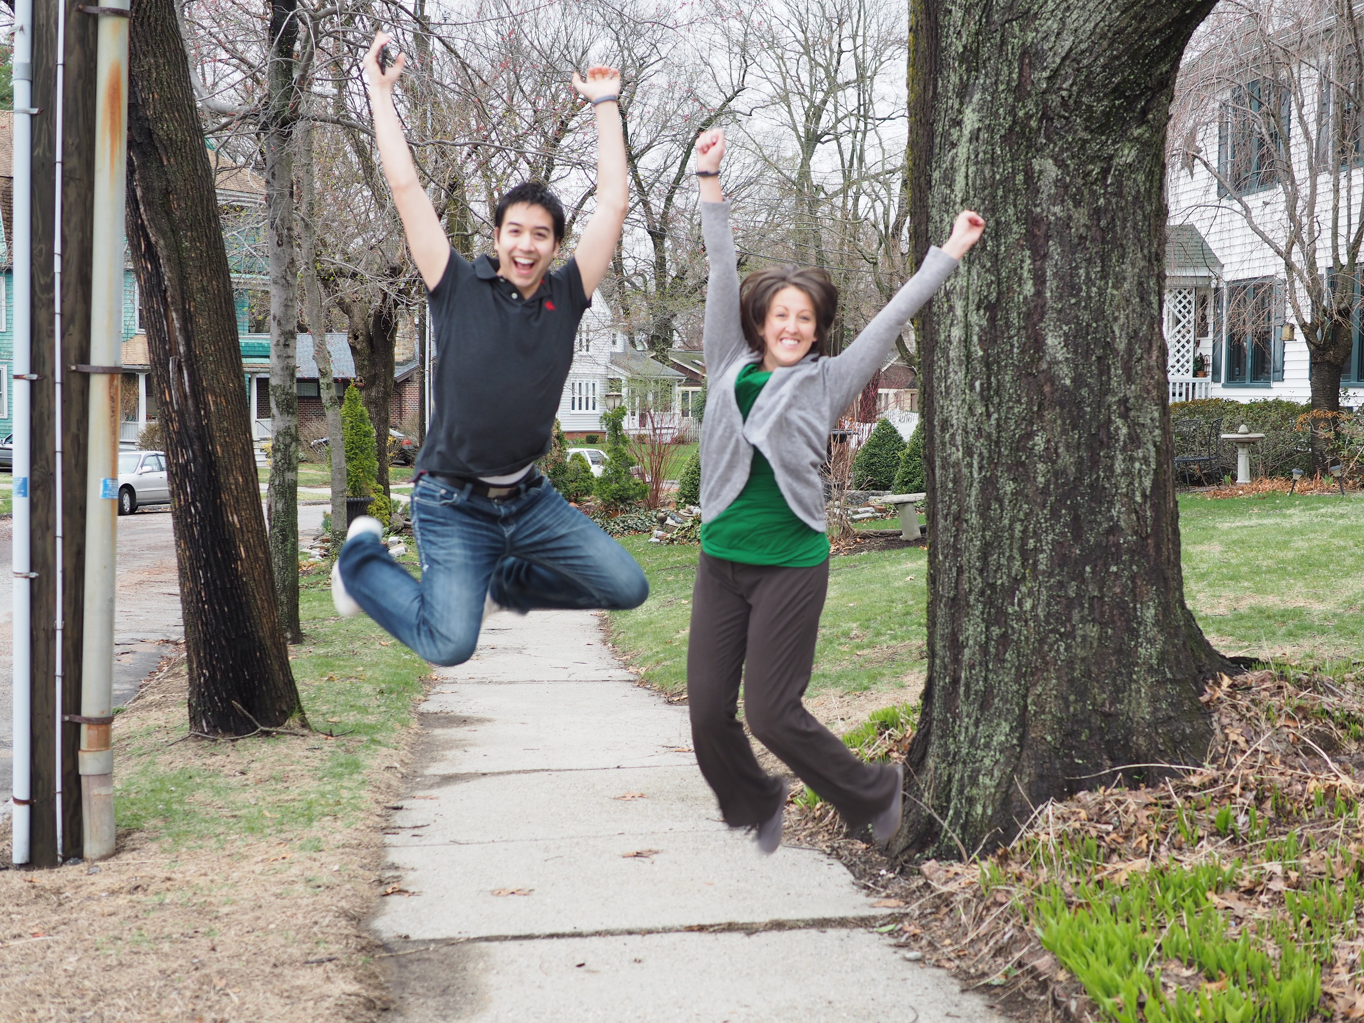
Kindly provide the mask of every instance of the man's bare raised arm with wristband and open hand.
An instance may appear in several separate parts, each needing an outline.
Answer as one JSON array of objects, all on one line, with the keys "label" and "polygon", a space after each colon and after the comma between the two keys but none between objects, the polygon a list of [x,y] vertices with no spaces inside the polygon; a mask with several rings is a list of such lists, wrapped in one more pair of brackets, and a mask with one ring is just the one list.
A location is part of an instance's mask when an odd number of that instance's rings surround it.
[{"label": "man's bare raised arm with wristband and open hand", "polygon": [[625,213],[630,206],[630,186],[625,168],[625,132],[621,128],[621,72],[610,67],[588,68],[587,78],[573,72],[573,87],[592,101],[597,123],[597,205],[582,229],[573,252],[582,291],[592,292],[611,267],[615,244],[621,240]]}]

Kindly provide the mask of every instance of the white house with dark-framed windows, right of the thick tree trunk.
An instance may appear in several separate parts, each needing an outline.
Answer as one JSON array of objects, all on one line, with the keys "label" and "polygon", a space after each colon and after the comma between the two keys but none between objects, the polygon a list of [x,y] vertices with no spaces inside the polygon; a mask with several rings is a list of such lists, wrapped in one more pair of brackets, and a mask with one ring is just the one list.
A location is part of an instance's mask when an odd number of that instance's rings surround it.
[{"label": "white house with dark-framed windows, right of the thick tree trunk", "polygon": [[[1327,225],[1334,179],[1354,196],[1353,210],[1346,202],[1341,216],[1357,229],[1364,216],[1364,161],[1356,155],[1353,168],[1346,160],[1333,166],[1324,142],[1330,125],[1338,132],[1339,117],[1349,119],[1352,109],[1342,104],[1345,113],[1333,119],[1333,86],[1314,70],[1330,65],[1315,49],[1330,48],[1329,30],[1312,37],[1300,63],[1285,63],[1284,50],[1270,45],[1247,49],[1244,40],[1240,45],[1219,46],[1214,40],[1183,71],[1177,116],[1184,123],[1172,127],[1176,145],[1166,169],[1169,398],[1307,402],[1308,351],[1289,301],[1289,289],[1301,281],[1290,278],[1256,228],[1284,244],[1293,220]],[[1303,110],[1312,123],[1300,123]],[[1357,135],[1357,123],[1345,123],[1354,124]],[[1357,138],[1353,151],[1360,151]],[[1296,206],[1286,205],[1285,192],[1293,194]],[[1308,207],[1309,202],[1316,206]],[[1329,229],[1320,229],[1315,255],[1320,266],[1331,265]],[[1301,301],[1300,308],[1305,308]],[[1359,315],[1341,386],[1346,404],[1364,404]]]}]

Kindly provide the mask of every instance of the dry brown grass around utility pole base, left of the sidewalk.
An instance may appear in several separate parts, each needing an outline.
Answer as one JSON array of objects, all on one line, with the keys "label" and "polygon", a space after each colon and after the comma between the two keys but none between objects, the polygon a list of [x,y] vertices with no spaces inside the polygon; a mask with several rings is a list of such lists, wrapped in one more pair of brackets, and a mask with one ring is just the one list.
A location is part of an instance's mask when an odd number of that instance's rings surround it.
[{"label": "dry brown grass around utility pole base, left of the sidewalk", "polygon": [[[240,799],[217,807],[221,843],[173,840],[155,827],[120,829],[117,853],[98,865],[0,872],[0,1018],[375,1019],[386,1008],[375,958],[382,949],[366,919],[383,889],[383,805],[402,784],[416,732],[405,728],[397,749],[360,772],[367,802],[360,812],[307,827],[289,821],[288,786],[246,786],[297,773],[322,756],[323,743],[348,739],[168,745],[186,731],[184,704],[183,667],[145,686],[116,720],[116,758],[138,741],[155,743],[157,769],[172,775],[207,769],[236,779],[236,779]],[[280,831],[241,833],[237,817],[247,814],[231,809],[243,806],[278,821]],[[0,857],[10,862],[8,847]]]}]

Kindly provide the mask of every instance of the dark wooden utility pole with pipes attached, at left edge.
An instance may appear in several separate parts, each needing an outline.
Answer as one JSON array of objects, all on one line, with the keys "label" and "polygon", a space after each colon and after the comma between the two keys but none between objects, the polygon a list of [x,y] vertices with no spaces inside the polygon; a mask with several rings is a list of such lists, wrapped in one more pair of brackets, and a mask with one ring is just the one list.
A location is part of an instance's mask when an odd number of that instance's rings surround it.
[{"label": "dark wooden utility pole with pipes attached, at left edge", "polygon": [[[65,7],[61,109],[57,22]],[[90,239],[94,160],[94,19],[75,0],[35,0],[33,40],[33,832],[34,866],[57,866],[80,850],[80,608],[85,547],[85,430],[89,381],[71,366],[90,353]],[[57,224],[57,117],[61,116],[61,213]],[[61,240],[59,280],[57,231]],[[61,292],[60,364],[57,291]],[[18,338],[16,338],[18,341]],[[57,381],[61,389],[59,396]],[[57,499],[60,421],[61,461]],[[59,505],[61,544],[59,561]],[[60,603],[59,603],[60,595]],[[59,656],[60,642],[60,656]],[[60,722],[60,724],[59,724]],[[60,762],[59,762],[60,728]],[[59,801],[57,794],[61,794]],[[60,829],[59,829],[60,816]]]}]

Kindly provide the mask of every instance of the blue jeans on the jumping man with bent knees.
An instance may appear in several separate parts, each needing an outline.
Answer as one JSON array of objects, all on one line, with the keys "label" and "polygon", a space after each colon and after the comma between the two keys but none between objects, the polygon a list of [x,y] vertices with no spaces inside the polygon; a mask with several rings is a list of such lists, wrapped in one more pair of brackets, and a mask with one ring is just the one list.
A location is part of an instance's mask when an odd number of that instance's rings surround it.
[{"label": "blue jeans on the jumping man with bent knees", "polygon": [[372,533],[341,548],[346,592],[396,640],[435,664],[473,656],[490,595],[513,611],[625,610],[649,595],[621,544],[569,505],[547,479],[510,501],[430,476],[412,491],[421,581]]}]

